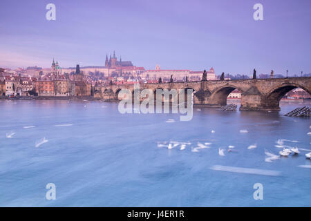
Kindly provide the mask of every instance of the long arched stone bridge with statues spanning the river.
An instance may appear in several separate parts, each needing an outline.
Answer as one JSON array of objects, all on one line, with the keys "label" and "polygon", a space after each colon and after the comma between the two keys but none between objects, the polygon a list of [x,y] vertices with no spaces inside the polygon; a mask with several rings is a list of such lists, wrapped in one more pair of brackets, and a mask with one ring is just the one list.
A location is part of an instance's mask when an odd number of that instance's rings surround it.
[{"label": "long arched stone bridge with statues spanning the river", "polygon": [[[123,88],[131,90],[133,84],[100,86],[95,88],[95,97],[115,99]],[[140,90],[193,89],[194,104],[220,107],[227,104],[227,96],[234,89],[241,92],[241,111],[279,111],[281,98],[294,88],[302,88],[311,94],[311,77],[289,77],[274,79],[239,79],[223,81],[192,81],[161,84],[140,84]]]}]

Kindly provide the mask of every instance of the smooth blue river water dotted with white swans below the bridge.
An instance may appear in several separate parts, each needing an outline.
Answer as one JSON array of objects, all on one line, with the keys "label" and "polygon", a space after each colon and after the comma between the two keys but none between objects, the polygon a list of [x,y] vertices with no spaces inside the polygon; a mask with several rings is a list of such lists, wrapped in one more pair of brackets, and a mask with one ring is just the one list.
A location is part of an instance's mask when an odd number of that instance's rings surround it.
[{"label": "smooth blue river water dotted with white swans below the bridge", "polygon": [[[122,115],[115,103],[0,100],[0,206],[311,206],[311,121],[283,116],[306,105],[194,106],[180,122]],[[280,146],[301,153],[266,160]],[[49,183],[56,200],[46,199]],[[256,183],[263,200],[254,200]]]}]

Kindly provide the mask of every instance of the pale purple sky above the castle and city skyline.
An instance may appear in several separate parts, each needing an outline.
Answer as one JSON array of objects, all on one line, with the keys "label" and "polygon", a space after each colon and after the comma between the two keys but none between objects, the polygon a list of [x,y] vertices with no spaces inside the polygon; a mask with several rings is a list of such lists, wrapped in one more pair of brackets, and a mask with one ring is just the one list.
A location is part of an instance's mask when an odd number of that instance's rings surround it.
[{"label": "pale purple sky above the castle and city skyline", "polygon": [[[56,21],[46,20],[55,3]],[[263,4],[263,21],[253,6]],[[310,0],[0,1],[0,66],[135,66],[250,75],[311,73]]]}]

